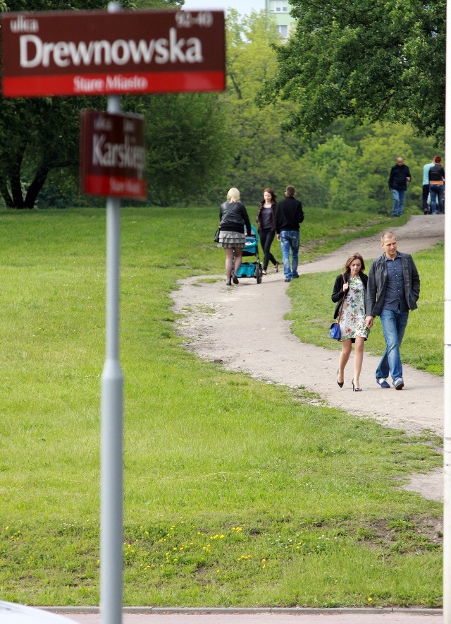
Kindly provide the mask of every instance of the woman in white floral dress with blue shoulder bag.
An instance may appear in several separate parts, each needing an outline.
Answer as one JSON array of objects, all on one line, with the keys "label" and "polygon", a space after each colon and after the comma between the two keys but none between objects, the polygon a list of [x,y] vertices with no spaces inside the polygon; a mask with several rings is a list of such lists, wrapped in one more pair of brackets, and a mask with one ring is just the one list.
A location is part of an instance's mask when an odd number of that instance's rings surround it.
[{"label": "woman in white floral dress with blue shoulder bag", "polygon": [[352,253],[346,260],[345,272],[335,280],[332,301],[337,304],[333,318],[340,313],[342,299],[345,301],[340,316],[341,353],[338,360],[337,383],[340,388],[345,382],[345,367],[350,359],[352,343],[354,343],[354,378],[352,390],[360,392],[360,372],[364,359],[364,342],[369,334],[365,325],[365,295],[368,277],[363,272],[364,259],[359,253]]}]

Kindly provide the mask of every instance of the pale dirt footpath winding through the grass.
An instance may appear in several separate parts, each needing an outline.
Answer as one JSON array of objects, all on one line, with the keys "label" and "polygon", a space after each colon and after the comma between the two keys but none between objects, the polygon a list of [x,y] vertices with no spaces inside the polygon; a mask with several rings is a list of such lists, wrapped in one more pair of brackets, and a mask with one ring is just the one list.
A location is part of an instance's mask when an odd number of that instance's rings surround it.
[{"label": "pale dirt footpath winding through the grass", "polygon": [[[399,250],[415,253],[443,240],[444,230],[444,215],[419,215],[394,232]],[[277,249],[278,241],[273,245]],[[382,253],[379,236],[353,241],[328,256],[300,265],[300,279],[306,273],[339,272],[352,251],[361,253],[369,265],[371,258]],[[283,272],[264,276],[261,284],[244,278],[233,287],[226,286],[223,275],[215,277],[216,282],[192,277],[173,292],[174,309],[183,314],[178,331],[187,338],[187,349],[268,383],[302,386],[316,392],[331,407],[356,416],[371,416],[385,426],[408,433],[428,429],[443,434],[443,378],[404,365],[404,389],[383,390],[374,377],[380,357],[366,353],[360,376],[363,392],[352,392],[352,358],[345,371],[345,385],[340,389],[336,383],[339,352],[300,342],[291,333],[290,322],[284,319],[290,310],[286,294],[290,284],[285,284]],[[421,314],[421,297],[414,314]],[[368,346],[371,348],[371,340]],[[428,498],[443,499],[441,471],[412,476],[408,487]]]}]

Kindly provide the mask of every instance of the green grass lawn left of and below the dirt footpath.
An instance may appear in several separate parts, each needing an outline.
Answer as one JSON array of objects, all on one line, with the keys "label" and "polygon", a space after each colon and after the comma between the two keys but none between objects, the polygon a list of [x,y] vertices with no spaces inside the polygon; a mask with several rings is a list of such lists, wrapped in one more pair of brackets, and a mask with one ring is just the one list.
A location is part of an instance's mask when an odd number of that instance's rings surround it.
[{"label": "green grass lawn left of and below the dirt footpath", "polygon": [[[394,479],[441,464],[427,436],[224,371],[175,335],[177,280],[223,272],[217,212],[123,209],[125,604],[440,605],[442,505]],[[329,251],[355,220],[312,212],[303,240]],[[0,265],[0,597],[98,604],[105,211],[0,212]]]}]

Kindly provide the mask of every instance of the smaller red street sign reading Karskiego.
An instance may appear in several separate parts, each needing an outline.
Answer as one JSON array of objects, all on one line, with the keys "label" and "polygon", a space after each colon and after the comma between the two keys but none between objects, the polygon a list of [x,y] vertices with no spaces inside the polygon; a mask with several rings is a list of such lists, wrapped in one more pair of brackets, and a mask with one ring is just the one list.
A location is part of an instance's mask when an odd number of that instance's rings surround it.
[{"label": "smaller red street sign reading Karskiego", "polygon": [[144,117],[99,111],[80,116],[82,193],[146,199]]}]

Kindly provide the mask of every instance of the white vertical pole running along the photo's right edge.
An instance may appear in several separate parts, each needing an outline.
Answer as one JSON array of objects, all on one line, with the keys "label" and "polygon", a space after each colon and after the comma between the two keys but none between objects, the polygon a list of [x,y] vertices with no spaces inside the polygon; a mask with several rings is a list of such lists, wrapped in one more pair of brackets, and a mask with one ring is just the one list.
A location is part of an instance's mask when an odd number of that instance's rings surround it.
[{"label": "white vertical pole running along the photo's right edge", "polygon": [[[451,24],[451,3],[446,6]],[[448,30],[448,27],[447,27]],[[451,37],[446,37],[445,161],[451,164]],[[451,188],[451,186],[450,186]],[[451,191],[445,210],[445,403],[443,482],[443,623],[451,624]]]}]

